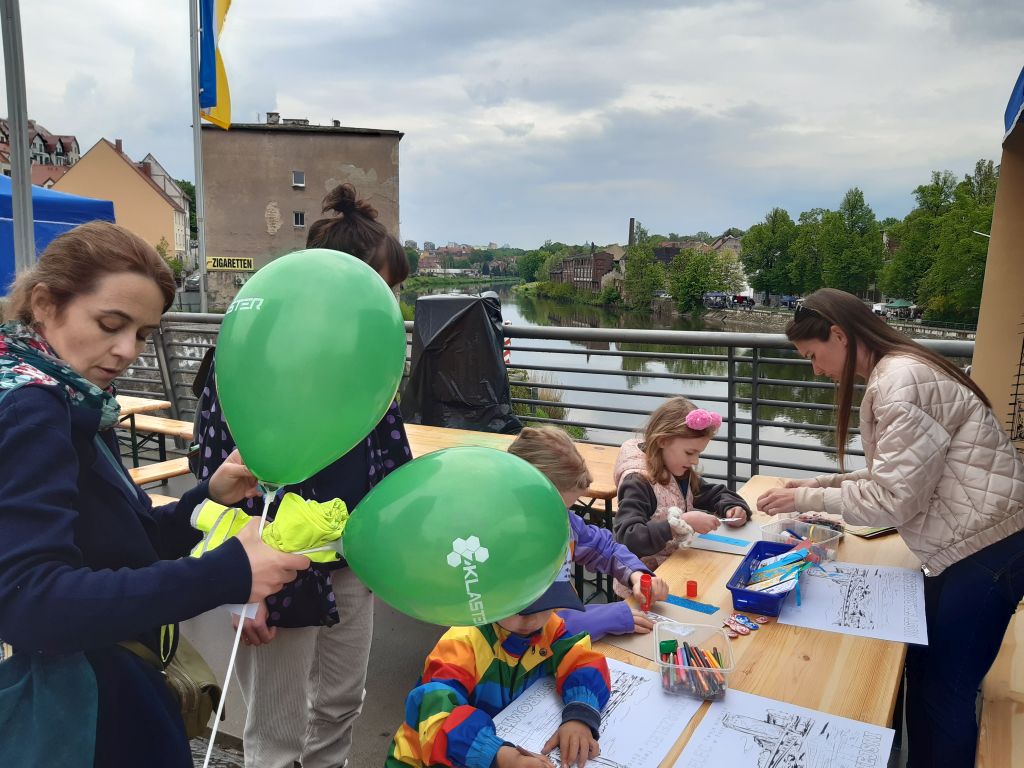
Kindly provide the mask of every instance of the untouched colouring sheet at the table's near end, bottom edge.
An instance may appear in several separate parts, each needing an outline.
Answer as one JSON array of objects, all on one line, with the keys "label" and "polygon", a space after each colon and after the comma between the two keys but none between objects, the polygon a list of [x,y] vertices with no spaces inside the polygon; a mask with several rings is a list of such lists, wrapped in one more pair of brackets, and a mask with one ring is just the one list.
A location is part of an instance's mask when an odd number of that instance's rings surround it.
[{"label": "untouched colouring sheet at the table's near end, bottom edge", "polygon": [[730,689],[675,768],[886,768],[894,731]]}]

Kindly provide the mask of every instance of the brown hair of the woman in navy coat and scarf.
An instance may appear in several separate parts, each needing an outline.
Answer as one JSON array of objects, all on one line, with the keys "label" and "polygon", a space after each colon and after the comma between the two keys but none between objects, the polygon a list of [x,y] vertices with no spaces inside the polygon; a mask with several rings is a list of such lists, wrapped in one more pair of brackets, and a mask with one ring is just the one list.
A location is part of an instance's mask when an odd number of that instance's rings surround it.
[{"label": "brown hair of the woman in navy coat and scarf", "polygon": [[110,221],[79,224],[46,246],[39,261],[10,288],[6,311],[32,325],[32,292],[45,286],[58,313],[79,296],[96,290],[108,274],[131,272],[150,278],[164,296],[164,311],[174,303],[174,275],[157,249],[123,226]]}]

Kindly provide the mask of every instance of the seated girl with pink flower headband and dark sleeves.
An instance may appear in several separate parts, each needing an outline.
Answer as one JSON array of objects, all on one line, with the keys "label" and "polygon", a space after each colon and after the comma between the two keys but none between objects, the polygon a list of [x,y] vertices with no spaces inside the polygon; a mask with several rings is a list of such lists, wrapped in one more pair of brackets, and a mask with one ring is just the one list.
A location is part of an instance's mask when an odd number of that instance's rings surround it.
[{"label": "seated girl with pink flower headband and dark sleeves", "polygon": [[738,495],[697,472],[700,454],[721,426],[718,414],[673,397],[650,415],[641,439],[618,451],[615,539],[652,570],[695,534],[709,534],[723,520],[738,527],[750,519]]}]

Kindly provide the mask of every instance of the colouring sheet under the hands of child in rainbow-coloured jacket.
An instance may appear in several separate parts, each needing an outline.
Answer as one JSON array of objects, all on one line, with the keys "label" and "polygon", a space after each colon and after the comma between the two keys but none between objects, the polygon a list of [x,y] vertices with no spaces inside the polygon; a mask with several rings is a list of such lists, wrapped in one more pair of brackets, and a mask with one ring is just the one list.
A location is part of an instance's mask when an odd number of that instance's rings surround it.
[{"label": "colouring sheet under the hands of child in rainbow-coloured jacket", "polygon": [[[609,658],[608,671],[611,696],[601,714],[601,755],[588,760],[588,768],[657,768],[701,702],[666,693],[651,670]],[[550,677],[495,717],[499,736],[532,752],[541,751],[561,722],[562,701]]]}]

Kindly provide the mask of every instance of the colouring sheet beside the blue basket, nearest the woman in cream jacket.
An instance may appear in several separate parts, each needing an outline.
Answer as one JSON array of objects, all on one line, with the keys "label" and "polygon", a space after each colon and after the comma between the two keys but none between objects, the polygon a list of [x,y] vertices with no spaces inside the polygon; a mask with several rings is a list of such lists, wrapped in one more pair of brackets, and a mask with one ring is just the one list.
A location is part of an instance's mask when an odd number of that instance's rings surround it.
[{"label": "colouring sheet beside the blue basket, nearest the woman in cream jacket", "polygon": [[913,568],[831,562],[800,579],[801,605],[791,592],[779,624],[845,635],[928,645],[925,577]]}]

